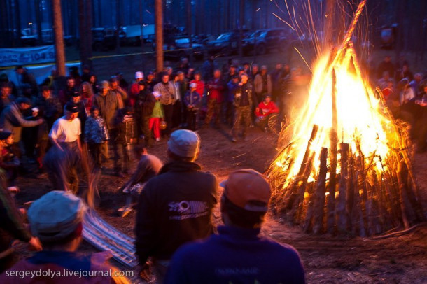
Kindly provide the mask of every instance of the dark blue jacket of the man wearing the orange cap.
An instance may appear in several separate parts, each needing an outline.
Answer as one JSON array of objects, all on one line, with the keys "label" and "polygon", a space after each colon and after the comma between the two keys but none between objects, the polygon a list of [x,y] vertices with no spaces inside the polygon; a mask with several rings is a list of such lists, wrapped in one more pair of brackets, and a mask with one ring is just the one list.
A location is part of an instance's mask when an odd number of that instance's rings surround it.
[{"label": "dark blue jacket of the man wearing the orange cap", "polygon": [[258,236],[260,229],[221,226],[218,232],[179,248],[165,283],[305,283],[292,246]]}]

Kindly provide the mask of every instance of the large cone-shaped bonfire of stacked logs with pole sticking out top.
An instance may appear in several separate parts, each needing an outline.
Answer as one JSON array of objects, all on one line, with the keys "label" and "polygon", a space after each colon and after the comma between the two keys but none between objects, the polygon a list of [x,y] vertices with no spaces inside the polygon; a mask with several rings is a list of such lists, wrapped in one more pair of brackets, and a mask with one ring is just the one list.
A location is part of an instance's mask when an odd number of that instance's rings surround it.
[{"label": "large cone-shaped bonfire of stacked logs with pole sticking out top", "polygon": [[364,5],[339,48],[317,60],[307,104],[267,171],[274,210],[306,232],[372,236],[424,218],[407,127],[368,85],[350,41]]}]

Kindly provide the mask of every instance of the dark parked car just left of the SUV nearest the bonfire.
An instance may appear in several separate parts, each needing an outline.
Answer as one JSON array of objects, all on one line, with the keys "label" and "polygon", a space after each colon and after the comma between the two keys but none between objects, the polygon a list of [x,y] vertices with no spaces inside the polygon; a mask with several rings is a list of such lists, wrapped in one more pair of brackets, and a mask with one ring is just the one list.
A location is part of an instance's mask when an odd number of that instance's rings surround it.
[{"label": "dark parked car just left of the SUV nearest the bonfire", "polygon": [[[248,30],[244,30],[244,38],[248,36]],[[207,43],[210,55],[232,55],[239,49],[239,31],[229,31],[221,34],[215,41]]]}]

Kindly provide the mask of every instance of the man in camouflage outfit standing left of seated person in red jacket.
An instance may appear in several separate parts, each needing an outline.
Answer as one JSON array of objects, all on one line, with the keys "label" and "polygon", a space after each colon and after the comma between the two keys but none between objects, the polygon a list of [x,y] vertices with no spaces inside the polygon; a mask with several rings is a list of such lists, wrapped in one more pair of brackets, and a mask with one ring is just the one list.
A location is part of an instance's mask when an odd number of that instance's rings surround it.
[{"label": "man in camouflage outfit standing left of seated person in red jacket", "polygon": [[232,142],[237,142],[237,136],[240,132],[241,123],[243,122],[243,129],[241,130],[241,137],[246,139],[246,129],[251,125],[252,120],[252,106],[257,105],[255,94],[253,94],[253,87],[248,82],[248,75],[241,74],[241,82],[239,88],[235,93],[235,122],[232,127]]}]

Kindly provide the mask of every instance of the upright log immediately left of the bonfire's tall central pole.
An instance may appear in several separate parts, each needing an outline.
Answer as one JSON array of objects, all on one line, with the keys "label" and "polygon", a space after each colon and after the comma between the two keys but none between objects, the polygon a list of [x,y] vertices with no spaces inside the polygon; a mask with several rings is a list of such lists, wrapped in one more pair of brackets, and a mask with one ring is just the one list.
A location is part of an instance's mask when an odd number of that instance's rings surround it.
[{"label": "upright log immediately left of the bonfire's tall central pole", "polygon": [[314,220],[313,232],[319,234],[323,232],[323,216],[325,208],[325,192],[326,192],[326,173],[328,173],[328,148],[322,148],[320,154],[320,170],[318,173],[316,188],[314,190]]}]

